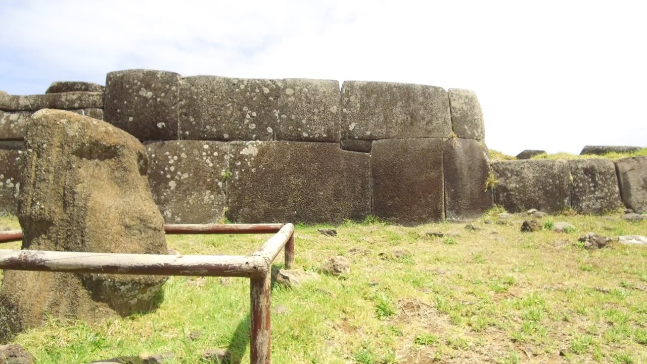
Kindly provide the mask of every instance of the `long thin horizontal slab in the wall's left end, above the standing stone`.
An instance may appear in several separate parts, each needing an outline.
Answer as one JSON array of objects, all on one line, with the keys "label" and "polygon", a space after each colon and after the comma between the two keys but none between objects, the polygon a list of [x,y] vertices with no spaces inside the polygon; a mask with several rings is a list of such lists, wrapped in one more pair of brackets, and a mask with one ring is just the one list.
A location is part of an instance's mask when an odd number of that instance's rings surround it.
[{"label": "long thin horizontal slab in the wall's left end, above the standing stone", "polygon": [[40,109],[103,108],[104,93],[66,92],[46,95],[0,95],[0,110],[36,111]]}]

